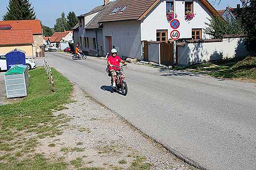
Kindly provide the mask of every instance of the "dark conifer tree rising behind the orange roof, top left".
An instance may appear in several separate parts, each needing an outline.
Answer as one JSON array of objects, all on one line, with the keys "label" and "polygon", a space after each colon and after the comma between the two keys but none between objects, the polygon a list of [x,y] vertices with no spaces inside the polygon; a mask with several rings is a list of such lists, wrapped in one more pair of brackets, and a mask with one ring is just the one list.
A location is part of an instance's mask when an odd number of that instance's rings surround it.
[{"label": "dark conifer tree rising behind the orange roof, top left", "polygon": [[36,19],[34,8],[28,0],[10,0],[3,20]]}]

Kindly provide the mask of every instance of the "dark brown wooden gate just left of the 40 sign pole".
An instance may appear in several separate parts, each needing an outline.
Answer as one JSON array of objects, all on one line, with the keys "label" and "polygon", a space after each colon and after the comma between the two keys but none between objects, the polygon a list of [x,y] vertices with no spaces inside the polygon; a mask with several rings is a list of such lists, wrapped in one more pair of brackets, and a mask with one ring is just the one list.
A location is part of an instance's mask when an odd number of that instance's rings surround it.
[{"label": "dark brown wooden gate just left of the 40 sign pole", "polygon": [[162,65],[174,65],[174,43],[160,43],[160,59]]}]

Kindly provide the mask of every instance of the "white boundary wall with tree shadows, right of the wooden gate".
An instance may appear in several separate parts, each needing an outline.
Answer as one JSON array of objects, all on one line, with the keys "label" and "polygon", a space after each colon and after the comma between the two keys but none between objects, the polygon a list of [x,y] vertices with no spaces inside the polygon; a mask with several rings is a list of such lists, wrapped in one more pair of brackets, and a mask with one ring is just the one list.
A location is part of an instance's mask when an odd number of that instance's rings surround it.
[{"label": "white boundary wall with tree shadows, right of the wooden gate", "polygon": [[177,46],[177,50],[179,65],[192,65],[218,59],[246,57],[248,54],[243,38],[223,39],[221,42],[186,42],[185,46]]}]

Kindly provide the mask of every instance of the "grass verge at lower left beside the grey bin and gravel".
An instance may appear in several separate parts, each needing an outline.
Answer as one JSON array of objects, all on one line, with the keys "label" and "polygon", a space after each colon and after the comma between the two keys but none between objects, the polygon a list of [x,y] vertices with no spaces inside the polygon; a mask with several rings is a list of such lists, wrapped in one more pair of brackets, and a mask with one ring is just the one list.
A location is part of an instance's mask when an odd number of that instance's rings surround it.
[{"label": "grass verge at lower left beside the grey bin and gravel", "polygon": [[[73,90],[67,78],[55,69],[52,73],[56,92],[52,92],[43,67],[38,67],[30,71],[28,96],[18,103],[0,106],[0,155],[4,155],[0,159],[0,169],[37,169],[36,164],[46,164],[47,159],[42,155],[31,153],[39,138],[61,134],[60,125],[69,118],[64,114],[53,116],[52,112],[64,109],[63,104],[71,102]],[[62,167],[56,169],[65,169],[64,164],[56,165]],[[52,166],[55,164],[48,164]]]}]

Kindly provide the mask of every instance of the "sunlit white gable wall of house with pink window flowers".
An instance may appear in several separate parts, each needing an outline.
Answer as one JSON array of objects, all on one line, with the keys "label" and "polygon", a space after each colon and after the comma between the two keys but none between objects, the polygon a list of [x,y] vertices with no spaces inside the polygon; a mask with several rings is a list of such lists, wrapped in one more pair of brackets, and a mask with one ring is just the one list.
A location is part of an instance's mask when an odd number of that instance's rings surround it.
[{"label": "sunlit white gable wall of house with pink window flowers", "polygon": [[[205,22],[208,22],[207,18],[212,16],[210,11],[199,0],[193,1],[193,12],[196,14],[195,18],[189,22],[186,21],[185,3],[181,0],[176,1],[177,19],[180,20],[180,28],[178,29],[180,31],[180,39],[191,39],[192,28],[205,28]],[[161,1],[159,5],[142,20],[141,40],[156,41],[157,29],[168,29],[168,39],[171,39],[170,33],[172,28],[166,19],[166,1]],[[202,32],[202,38],[209,39],[209,36]]]}]

